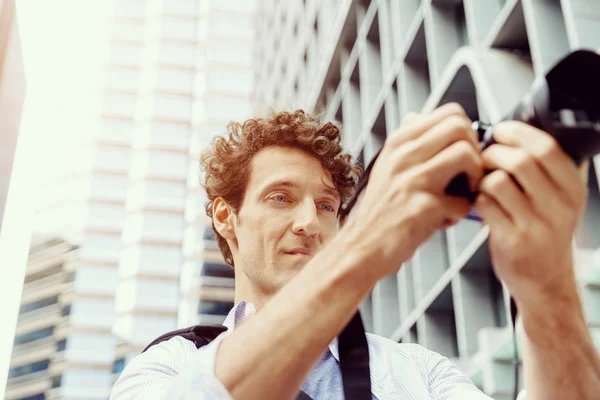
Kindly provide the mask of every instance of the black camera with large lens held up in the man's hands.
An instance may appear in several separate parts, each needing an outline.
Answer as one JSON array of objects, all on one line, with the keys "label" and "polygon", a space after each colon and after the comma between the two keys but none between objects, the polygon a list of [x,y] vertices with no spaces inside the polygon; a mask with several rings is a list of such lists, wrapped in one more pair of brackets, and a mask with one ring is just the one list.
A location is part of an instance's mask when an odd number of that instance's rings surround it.
[{"label": "black camera with large lens held up in the man's hands", "polygon": [[[600,55],[577,50],[537,79],[504,120],[522,121],[552,135],[577,165],[600,153]],[[481,150],[495,143],[493,126],[475,121]],[[446,193],[474,201],[467,176],[450,182]],[[469,219],[480,220],[473,212]]]}]

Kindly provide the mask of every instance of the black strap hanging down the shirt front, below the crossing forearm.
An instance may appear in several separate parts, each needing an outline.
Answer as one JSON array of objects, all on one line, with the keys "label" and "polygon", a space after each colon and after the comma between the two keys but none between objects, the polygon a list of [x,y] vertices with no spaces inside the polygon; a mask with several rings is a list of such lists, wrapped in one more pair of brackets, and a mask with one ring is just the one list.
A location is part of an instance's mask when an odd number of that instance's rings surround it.
[{"label": "black strap hanging down the shirt front, below the crossing forearm", "polygon": [[369,344],[357,311],[338,338],[340,369],[346,400],[371,400]]}]

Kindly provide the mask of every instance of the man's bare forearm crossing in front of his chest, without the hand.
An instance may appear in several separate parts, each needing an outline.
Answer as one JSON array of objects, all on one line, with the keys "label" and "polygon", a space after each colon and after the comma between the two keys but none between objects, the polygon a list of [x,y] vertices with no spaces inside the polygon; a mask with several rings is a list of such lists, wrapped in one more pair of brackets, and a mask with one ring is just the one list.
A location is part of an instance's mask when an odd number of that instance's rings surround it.
[{"label": "man's bare forearm crossing in front of his chest, without the hand", "polygon": [[[233,398],[287,399],[376,283],[365,258],[339,235],[252,318],[223,340],[215,374]],[[370,276],[371,275],[371,276]]]}]

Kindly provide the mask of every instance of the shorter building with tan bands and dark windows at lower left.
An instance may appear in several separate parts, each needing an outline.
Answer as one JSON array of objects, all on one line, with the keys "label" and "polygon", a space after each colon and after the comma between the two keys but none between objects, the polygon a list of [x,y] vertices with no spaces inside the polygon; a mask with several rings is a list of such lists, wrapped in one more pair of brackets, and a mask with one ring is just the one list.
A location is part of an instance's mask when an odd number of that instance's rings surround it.
[{"label": "shorter building with tan bands and dark windows at lower left", "polygon": [[57,397],[66,363],[76,251],[59,238],[32,239],[6,399]]}]

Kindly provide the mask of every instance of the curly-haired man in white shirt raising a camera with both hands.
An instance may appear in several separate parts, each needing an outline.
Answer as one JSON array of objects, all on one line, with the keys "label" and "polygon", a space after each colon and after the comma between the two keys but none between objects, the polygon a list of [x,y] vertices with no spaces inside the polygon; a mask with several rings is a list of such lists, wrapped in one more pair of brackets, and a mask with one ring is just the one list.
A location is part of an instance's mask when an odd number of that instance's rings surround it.
[{"label": "curly-haired man in white shirt raising a camera with both hands", "polygon": [[[495,272],[522,317],[528,398],[599,398],[571,250],[586,185],[544,132],[506,122],[494,135],[498,144],[480,153],[456,104],[409,116],[338,229],[359,170],[337,128],[301,111],[230,125],[203,158],[207,213],[236,272],[229,330],[200,349],[179,337],[150,348],[111,398],[290,399],[299,389],[342,398],[335,337],[382,277],[468,213],[468,200],[445,194],[461,172],[480,192]],[[488,399],[442,355],[368,342],[376,399]]]}]

